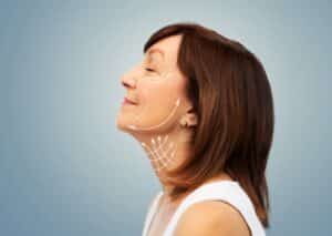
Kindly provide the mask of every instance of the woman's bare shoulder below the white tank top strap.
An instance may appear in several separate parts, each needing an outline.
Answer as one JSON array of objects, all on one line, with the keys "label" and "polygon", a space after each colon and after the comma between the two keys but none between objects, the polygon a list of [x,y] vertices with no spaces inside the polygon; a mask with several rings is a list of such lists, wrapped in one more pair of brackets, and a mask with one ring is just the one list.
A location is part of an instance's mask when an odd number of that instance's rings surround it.
[{"label": "woman's bare shoulder below the white tank top strap", "polygon": [[250,236],[242,215],[222,201],[204,201],[189,206],[177,223],[175,236]]}]

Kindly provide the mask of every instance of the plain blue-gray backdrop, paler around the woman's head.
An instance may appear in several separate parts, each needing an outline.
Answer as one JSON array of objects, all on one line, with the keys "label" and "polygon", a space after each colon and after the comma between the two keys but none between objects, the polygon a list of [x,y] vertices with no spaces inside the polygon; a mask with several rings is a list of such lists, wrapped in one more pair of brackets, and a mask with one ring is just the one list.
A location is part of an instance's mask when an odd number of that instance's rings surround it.
[{"label": "plain blue-gray backdrop, paler around the woman's head", "polygon": [[329,1],[1,1],[0,235],[141,235],[160,189],[115,127],[121,75],[195,21],[263,62],[276,103],[268,235],[330,235]]}]

